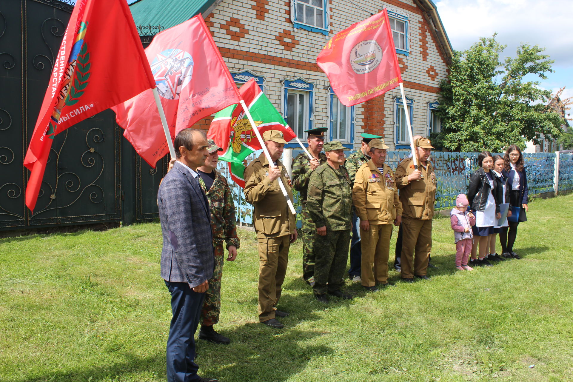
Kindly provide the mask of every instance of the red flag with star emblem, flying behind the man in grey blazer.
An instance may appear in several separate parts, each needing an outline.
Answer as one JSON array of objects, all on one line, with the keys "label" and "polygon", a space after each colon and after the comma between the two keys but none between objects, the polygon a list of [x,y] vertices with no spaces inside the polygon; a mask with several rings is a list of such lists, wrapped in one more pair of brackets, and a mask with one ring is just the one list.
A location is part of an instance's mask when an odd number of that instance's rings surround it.
[{"label": "red flag with star emblem, flying behind the man in grey blazer", "polygon": [[[146,48],[171,140],[239,102],[237,86],[201,14],[159,33]],[[151,167],[169,149],[151,90],[112,108],[123,135]]]}]

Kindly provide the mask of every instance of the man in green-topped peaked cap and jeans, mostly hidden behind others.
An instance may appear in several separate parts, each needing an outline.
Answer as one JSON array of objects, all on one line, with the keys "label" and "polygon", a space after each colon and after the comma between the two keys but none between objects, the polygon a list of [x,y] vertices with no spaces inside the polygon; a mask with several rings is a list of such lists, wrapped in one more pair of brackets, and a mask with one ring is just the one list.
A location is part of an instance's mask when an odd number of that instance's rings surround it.
[{"label": "man in green-topped peaked cap and jeans, mostly hidden behind others", "polygon": [[[354,179],[356,177],[356,171],[363,164],[367,163],[370,160],[370,156],[368,155],[368,151],[370,151],[370,147],[368,147],[368,143],[372,139],[378,138],[383,139],[384,137],[374,134],[362,133],[360,134],[362,137],[362,146],[360,149],[356,150],[356,152],[351,153],[348,155],[348,159],[344,163],[344,167],[348,170],[348,175],[350,175],[350,181],[354,183]],[[358,219],[358,215],[354,211],[352,216],[352,241],[350,242],[350,269],[348,269],[348,275],[354,282],[361,282],[360,279],[360,263],[362,262],[362,249],[360,247],[360,220]]]}]

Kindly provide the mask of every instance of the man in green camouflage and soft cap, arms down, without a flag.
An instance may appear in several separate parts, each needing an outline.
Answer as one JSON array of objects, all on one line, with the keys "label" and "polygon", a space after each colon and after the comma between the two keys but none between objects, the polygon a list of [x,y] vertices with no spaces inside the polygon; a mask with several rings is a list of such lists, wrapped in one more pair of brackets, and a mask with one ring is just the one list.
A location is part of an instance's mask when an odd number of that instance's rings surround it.
[{"label": "man in green camouflage and soft cap, arms down, without a flag", "polygon": [[316,299],[328,302],[331,296],[352,298],[340,290],[348,260],[352,229],[352,187],[344,163],[340,141],[324,144],[327,162],[312,172],[308,180],[307,208],[316,225],[315,285]]}]

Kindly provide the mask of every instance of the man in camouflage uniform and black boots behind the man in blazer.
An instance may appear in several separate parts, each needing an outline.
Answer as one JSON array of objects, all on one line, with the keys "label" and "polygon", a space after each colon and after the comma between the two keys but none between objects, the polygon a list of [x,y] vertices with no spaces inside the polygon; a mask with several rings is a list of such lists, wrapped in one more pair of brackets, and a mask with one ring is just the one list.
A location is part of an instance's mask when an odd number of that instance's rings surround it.
[{"label": "man in camouflage uniform and black boots behind the man in blazer", "polygon": [[219,322],[221,312],[221,274],[223,271],[223,242],[226,242],[227,261],[234,261],[240,246],[237,237],[237,221],[235,219],[235,204],[231,197],[229,184],[217,170],[219,151],[223,151],[213,140],[208,140],[209,156],[205,164],[197,168],[199,185],[205,191],[211,210],[211,230],[213,231],[213,249],[215,254],[213,277],[209,279],[209,289],[205,294],[203,309],[201,309],[201,329],[199,338],[215,344],[228,344],[229,338],[215,332],[213,325]]}]

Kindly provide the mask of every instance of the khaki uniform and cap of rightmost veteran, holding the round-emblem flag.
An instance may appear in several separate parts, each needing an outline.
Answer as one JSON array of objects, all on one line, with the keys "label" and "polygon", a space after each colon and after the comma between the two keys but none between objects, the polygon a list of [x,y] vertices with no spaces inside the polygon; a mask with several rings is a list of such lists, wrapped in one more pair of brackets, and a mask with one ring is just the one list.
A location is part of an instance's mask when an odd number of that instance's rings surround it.
[{"label": "khaki uniform and cap of rightmost veteran, holding the round-emblem flag", "polygon": [[[418,139],[416,147],[433,148],[427,138]],[[436,179],[429,161],[425,165],[418,163],[418,170],[422,171],[423,178],[409,183],[408,176],[414,172],[414,162],[410,157],[402,160],[394,173],[403,208],[402,278],[426,275],[431,251]]]}]

